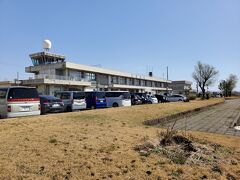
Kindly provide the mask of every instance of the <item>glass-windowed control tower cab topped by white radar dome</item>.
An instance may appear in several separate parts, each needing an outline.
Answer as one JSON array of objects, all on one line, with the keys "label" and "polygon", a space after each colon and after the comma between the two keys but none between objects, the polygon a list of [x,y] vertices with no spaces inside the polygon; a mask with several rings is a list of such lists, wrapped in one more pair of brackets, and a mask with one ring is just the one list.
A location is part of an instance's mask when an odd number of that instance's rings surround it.
[{"label": "glass-windowed control tower cab topped by white radar dome", "polygon": [[43,41],[43,51],[38,53],[30,54],[30,58],[34,66],[44,65],[44,64],[54,64],[65,61],[65,56],[49,53],[52,47],[52,43],[49,40]]}]

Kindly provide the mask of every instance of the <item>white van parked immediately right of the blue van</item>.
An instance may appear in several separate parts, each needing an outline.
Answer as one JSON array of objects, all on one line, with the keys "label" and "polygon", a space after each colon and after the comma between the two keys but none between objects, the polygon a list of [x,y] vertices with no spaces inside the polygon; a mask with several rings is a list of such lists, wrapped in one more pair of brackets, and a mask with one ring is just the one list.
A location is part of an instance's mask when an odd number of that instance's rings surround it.
[{"label": "white van parked immediately right of the blue van", "polygon": [[128,91],[107,91],[107,107],[131,106],[131,94]]}]

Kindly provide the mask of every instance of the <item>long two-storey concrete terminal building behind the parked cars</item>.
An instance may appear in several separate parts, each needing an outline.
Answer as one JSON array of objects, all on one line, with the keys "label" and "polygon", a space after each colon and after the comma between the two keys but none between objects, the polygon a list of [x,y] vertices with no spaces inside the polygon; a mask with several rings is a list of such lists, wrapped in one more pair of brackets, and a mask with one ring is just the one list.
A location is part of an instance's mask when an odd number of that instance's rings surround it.
[{"label": "long two-storey concrete terminal building behind the parked cars", "polygon": [[133,75],[95,66],[66,61],[65,56],[48,51],[30,54],[33,65],[25,72],[34,77],[22,80],[24,86],[37,87],[40,94],[53,95],[56,91],[130,91],[153,94],[171,91],[171,81],[148,76]]}]

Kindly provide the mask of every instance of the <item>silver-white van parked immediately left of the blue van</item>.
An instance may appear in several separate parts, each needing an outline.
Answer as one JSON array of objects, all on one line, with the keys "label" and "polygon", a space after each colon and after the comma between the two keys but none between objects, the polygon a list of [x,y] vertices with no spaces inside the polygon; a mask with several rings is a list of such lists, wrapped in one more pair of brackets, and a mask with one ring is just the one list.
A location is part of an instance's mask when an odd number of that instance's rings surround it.
[{"label": "silver-white van parked immediately left of the blue van", "polygon": [[65,111],[71,112],[87,108],[85,93],[81,91],[61,91],[56,92],[55,96],[61,99],[65,106]]}]

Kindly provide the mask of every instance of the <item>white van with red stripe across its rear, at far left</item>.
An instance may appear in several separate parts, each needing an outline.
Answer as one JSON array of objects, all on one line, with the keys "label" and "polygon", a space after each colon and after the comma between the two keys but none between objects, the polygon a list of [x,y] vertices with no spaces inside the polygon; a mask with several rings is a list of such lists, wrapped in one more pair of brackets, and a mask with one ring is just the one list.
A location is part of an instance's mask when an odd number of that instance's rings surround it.
[{"label": "white van with red stripe across its rear, at far left", "polygon": [[0,88],[0,118],[32,115],[40,115],[40,100],[36,88]]}]

